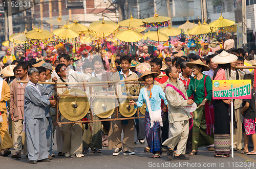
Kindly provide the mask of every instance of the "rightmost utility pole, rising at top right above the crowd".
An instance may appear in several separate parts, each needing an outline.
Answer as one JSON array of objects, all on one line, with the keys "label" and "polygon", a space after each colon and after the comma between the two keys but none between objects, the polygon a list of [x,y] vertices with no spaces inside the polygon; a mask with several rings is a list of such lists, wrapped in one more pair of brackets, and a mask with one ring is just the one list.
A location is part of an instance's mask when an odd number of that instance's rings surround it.
[{"label": "rightmost utility pole, rising at top right above the crowd", "polygon": [[242,27],[243,27],[243,49],[247,51],[247,17],[246,17],[246,0],[242,0]]}]

